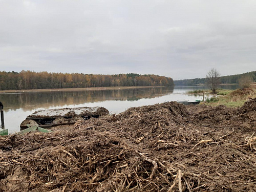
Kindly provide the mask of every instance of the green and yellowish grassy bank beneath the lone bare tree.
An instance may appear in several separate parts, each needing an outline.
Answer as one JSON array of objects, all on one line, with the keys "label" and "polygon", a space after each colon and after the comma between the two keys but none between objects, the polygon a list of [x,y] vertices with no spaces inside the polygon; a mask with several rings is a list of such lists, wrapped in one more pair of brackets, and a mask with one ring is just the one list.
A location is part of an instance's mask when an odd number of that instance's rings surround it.
[{"label": "green and yellowish grassy bank beneath the lone bare tree", "polygon": [[256,90],[237,89],[237,90],[218,90],[218,97],[206,97],[205,102],[201,102],[206,105],[217,106],[226,105],[229,107],[242,106],[245,101],[256,97]]}]

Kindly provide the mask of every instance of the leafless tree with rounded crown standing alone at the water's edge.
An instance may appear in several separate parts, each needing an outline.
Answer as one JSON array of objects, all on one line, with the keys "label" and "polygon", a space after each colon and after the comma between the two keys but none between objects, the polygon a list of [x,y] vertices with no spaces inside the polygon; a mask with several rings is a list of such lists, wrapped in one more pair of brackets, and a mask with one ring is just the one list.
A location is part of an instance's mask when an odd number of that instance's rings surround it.
[{"label": "leafless tree with rounded crown standing alone at the water's edge", "polygon": [[206,84],[211,89],[212,93],[216,93],[217,87],[220,84],[221,74],[214,68],[206,74]]}]

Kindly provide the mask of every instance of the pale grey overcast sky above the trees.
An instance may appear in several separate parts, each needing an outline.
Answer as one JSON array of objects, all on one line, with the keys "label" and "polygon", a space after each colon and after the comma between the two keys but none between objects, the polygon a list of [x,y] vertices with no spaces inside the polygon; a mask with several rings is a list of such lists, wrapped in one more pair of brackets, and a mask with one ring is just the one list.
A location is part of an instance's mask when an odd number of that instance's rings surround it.
[{"label": "pale grey overcast sky above the trees", "polygon": [[256,71],[256,1],[0,0],[0,71]]}]

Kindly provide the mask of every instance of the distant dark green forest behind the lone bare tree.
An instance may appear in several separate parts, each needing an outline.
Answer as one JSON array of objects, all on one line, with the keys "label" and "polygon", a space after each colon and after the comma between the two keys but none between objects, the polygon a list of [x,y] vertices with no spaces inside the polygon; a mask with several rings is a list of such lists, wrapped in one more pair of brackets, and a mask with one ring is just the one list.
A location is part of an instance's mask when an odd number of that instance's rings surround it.
[{"label": "distant dark green forest behind the lone bare tree", "polygon": [[[220,78],[221,83],[238,83],[239,79],[244,76],[252,77],[253,81],[256,81],[256,71],[251,71],[248,73],[238,74],[238,75],[228,75],[222,76]],[[195,78],[195,79],[182,79],[182,80],[175,80],[175,86],[194,86],[196,84],[204,84],[205,78]]]}]

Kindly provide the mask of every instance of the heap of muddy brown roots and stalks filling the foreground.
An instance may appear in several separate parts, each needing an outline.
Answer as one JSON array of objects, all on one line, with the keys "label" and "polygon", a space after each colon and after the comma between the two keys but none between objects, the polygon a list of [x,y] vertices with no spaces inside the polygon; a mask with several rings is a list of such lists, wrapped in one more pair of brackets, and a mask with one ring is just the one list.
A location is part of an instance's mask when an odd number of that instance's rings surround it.
[{"label": "heap of muddy brown roots and stalks filling the foreground", "polygon": [[0,137],[0,191],[256,191],[256,99],[130,108]]}]

